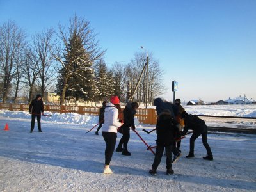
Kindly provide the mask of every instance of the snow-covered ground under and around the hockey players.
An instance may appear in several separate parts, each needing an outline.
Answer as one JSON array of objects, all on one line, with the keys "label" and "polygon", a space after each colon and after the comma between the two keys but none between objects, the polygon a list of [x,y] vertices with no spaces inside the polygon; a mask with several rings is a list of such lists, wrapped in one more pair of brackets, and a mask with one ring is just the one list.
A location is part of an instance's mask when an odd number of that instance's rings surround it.
[{"label": "snow-covered ground under and around the hockey players", "polygon": [[[184,106],[198,115],[256,116],[256,106]],[[50,114],[45,112],[45,114]],[[31,115],[0,111],[0,191],[256,191],[256,135],[210,132],[214,161],[205,161],[201,138],[195,142],[195,158],[186,159],[189,135],[182,140],[182,157],[173,164],[174,175],[165,175],[165,156],[157,176],[148,174],[154,155],[131,131],[131,156],[114,152],[113,175],[104,175],[105,143],[95,135],[97,116],[76,113],[42,117],[42,133],[31,134]],[[8,124],[9,131],[4,131]],[[252,121],[255,126],[255,121]],[[156,132],[142,129],[140,136],[154,145]],[[118,140],[121,134],[118,133]]]}]

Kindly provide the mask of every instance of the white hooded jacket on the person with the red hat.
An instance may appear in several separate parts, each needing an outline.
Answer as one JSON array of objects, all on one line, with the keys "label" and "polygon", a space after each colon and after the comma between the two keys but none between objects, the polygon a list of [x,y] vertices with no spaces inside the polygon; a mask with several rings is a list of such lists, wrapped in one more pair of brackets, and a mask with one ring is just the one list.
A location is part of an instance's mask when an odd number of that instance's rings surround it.
[{"label": "white hooded jacket on the person with the red hat", "polygon": [[118,120],[118,109],[114,104],[108,102],[104,113],[104,124],[102,126],[102,132],[115,132],[117,128],[121,126]]}]

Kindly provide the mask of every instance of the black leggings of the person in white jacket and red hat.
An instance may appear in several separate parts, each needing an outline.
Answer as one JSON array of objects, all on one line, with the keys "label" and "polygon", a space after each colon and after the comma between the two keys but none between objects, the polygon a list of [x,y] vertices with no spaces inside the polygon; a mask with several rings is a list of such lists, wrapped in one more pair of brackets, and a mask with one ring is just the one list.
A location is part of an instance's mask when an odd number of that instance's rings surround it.
[{"label": "black leggings of the person in white jacket and red hat", "polygon": [[102,132],[102,136],[106,143],[105,164],[109,165],[115,150],[117,134],[115,132]]}]

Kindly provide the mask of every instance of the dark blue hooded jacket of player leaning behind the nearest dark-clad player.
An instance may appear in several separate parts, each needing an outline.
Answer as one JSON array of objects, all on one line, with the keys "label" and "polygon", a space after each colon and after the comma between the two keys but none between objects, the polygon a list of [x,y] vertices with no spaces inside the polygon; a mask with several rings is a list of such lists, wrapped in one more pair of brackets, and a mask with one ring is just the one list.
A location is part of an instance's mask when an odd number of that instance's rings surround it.
[{"label": "dark blue hooded jacket of player leaning behind the nearest dark-clad player", "polygon": [[175,119],[180,111],[179,106],[176,106],[175,104],[172,104],[170,102],[163,102],[163,100],[161,98],[156,98],[154,100],[154,106],[156,106],[157,115],[162,113],[164,111],[164,109],[168,109],[170,111],[172,117]]}]

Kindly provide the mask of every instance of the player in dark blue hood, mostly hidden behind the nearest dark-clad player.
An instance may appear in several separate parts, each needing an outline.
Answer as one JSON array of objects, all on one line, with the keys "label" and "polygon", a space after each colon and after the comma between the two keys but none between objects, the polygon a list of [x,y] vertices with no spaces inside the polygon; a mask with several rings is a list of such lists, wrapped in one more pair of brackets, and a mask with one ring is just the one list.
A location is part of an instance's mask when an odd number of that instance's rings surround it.
[{"label": "player in dark blue hood, mostly hidden behind the nearest dark-clad player", "polygon": [[[176,120],[177,115],[179,114],[179,106],[176,106],[175,104],[172,104],[170,102],[163,102],[161,98],[156,98],[154,100],[154,106],[156,106],[156,112],[157,116],[162,113],[165,109],[168,109],[170,111],[170,115],[172,118]],[[179,130],[182,131],[181,126],[179,126]],[[174,141],[173,141],[174,142]],[[172,152],[174,154],[172,163],[175,163],[179,157],[181,156],[181,153],[179,150],[175,147],[175,143],[173,143]]]}]

